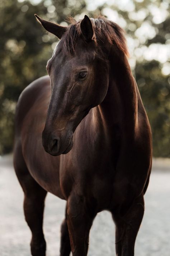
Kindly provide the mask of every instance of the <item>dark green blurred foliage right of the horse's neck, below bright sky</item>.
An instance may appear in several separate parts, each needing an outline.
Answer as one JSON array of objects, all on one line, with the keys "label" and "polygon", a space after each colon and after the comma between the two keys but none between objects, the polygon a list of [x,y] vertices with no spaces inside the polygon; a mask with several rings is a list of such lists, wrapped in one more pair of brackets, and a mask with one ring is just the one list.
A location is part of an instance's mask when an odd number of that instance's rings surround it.
[{"label": "dark green blurred foliage right of the horse's neck, below bright sky", "polygon": [[152,127],[154,156],[170,157],[170,88],[159,65],[155,60],[137,63],[135,73]]}]

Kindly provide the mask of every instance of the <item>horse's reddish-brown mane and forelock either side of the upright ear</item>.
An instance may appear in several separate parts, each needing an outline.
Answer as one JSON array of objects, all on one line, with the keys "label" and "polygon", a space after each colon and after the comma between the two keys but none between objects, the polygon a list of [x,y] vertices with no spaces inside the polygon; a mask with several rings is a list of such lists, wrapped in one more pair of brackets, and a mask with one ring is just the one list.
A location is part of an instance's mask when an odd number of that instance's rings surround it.
[{"label": "horse's reddish-brown mane and forelock either side of the upright ear", "polygon": [[[126,38],[124,36],[124,30],[119,27],[118,24],[109,21],[105,17],[98,17],[96,19],[91,18],[93,30],[95,33],[94,40],[104,42],[107,40],[110,45],[117,45],[119,50],[128,56],[128,49],[126,44]],[[63,51],[67,53],[73,53],[75,46],[81,37],[80,23],[69,17],[68,21],[71,23],[65,32],[65,40],[63,42]]]}]

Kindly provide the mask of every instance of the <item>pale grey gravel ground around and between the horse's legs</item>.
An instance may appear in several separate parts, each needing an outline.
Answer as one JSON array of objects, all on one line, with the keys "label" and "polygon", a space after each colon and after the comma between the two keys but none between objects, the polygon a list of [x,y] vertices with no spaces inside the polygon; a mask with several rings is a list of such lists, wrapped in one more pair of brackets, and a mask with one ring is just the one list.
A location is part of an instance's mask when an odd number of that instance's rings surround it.
[{"label": "pale grey gravel ground around and between the horse's legs", "polygon": [[[0,158],[0,255],[29,256],[30,230],[23,215],[23,192],[16,179],[12,157]],[[170,255],[169,161],[154,161],[145,196],[145,215],[137,236],[136,256]],[[44,214],[47,256],[58,256],[60,225],[65,201],[48,193]],[[99,213],[91,228],[88,256],[115,256],[114,224],[109,212]]]}]

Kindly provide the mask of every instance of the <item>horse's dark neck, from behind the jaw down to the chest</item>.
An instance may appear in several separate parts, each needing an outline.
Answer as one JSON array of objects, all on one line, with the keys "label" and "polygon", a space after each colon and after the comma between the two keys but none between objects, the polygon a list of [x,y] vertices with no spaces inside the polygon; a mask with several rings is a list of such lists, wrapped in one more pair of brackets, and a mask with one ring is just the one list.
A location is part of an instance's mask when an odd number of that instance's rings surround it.
[{"label": "horse's dark neck, from behind the jaw down to the chest", "polygon": [[[110,56],[109,87],[98,106],[105,129],[110,135],[115,129],[125,136],[133,136],[137,127],[137,93],[134,78],[126,56]],[[99,113],[98,112],[98,113]],[[100,118],[98,116],[98,118]]]}]

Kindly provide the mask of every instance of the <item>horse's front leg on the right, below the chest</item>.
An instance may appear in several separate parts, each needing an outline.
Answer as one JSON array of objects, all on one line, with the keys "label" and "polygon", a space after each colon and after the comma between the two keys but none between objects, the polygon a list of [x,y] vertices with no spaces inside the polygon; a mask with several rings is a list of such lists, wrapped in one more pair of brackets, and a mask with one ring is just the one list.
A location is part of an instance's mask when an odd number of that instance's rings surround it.
[{"label": "horse's front leg on the right, below the chest", "polygon": [[143,213],[144,199],[142,195],[134,200],[124,216],[114,216],[116,229],[118,230],[116,241],[118,256],[134,256],[134,243],[141,225]]}]

